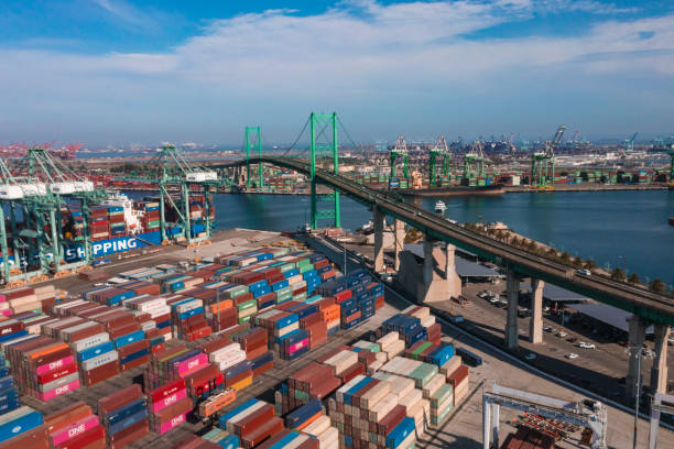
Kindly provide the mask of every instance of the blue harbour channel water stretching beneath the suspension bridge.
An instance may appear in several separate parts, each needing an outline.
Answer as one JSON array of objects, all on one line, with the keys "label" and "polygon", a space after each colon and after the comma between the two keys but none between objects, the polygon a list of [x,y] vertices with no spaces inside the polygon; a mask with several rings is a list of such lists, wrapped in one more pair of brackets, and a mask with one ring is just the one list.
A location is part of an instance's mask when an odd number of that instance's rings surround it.
[{"label": "blue harbour channel water stretching beneath the suspension bridge", "polygon": [[[133,195],[137,197],[137,195]],[[423,198],[433,210],[438,198]],[[502,221],[515,232],[598,265],[626,266],[642,280],[674,282],[674,191],[555,191],[500,197],[447,197],[445,216],[459,222]],[[295,230],[309,219],[307,196],[215,195],[217,229]],[[319,207],[329,204],[319,202]],[[371,211],[341,197],[341,225],[355,230]],[[324,221],[328,225],[329,221]]]}]

